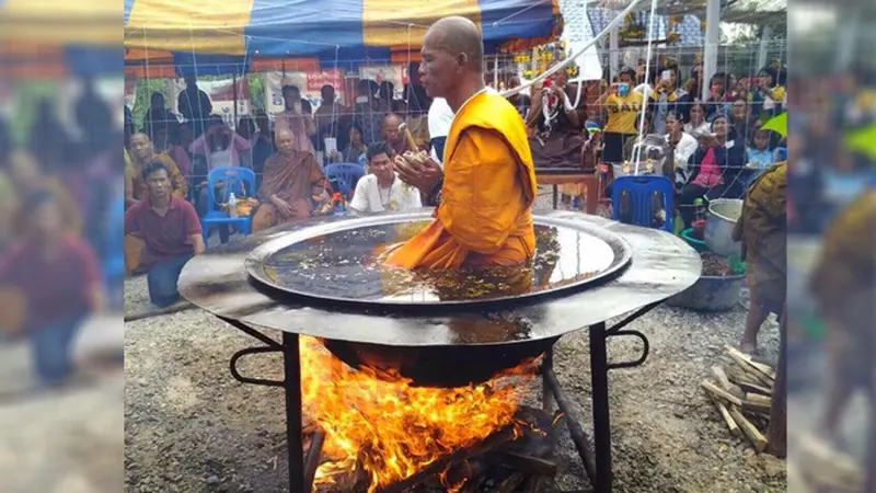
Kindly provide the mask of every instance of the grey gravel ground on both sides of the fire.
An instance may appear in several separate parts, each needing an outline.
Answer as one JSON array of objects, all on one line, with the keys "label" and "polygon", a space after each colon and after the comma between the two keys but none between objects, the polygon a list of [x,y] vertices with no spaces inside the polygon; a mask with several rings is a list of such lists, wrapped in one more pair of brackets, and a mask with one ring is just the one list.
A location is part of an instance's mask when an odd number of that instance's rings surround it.
[{"label": "grey gravel ground on both sides of the fire", "polygon": [[[542,200],[549,200],[544,197]],[[126,283],[129,313],[149,310],[145,278]],[[645,333],[644,366],[609,376],[616,492],[786,491],[785,462],[758,456],[725,428],[699,388],[734,344],[746,311],[698,314],[659,307],[631,328]],[[777,325],[761,348],[777,354]],[[231,378],[228,359],[254,341],[192,309],[129,322],[125,354],[127,489],[135,492],[281,492],[286,478],[283,393]],[[592,436],[586,331],[555,348],[555,370]],[[637,341],[612,340],[614,360],[635,359]],[[280,364],[254,358],[243,371],[279,378]],[[538,402],[540,386],[527,401]],[[568,433],[557,448],[565,489],[586,485]]]}]

